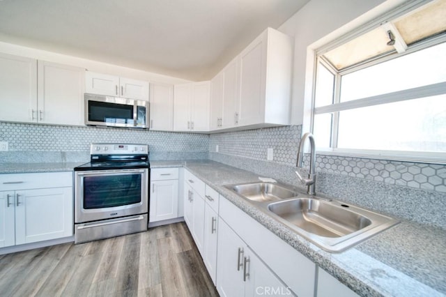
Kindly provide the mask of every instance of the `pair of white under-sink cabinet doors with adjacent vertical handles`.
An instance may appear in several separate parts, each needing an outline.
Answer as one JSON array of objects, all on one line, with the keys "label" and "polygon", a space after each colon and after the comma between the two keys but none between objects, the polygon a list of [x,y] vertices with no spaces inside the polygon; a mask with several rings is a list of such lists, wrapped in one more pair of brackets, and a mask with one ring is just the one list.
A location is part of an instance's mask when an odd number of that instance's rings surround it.
[{"label": "pair of white under-sink cabinet doors with adjacent vertical handles", "polygon": [[217,291],[220,296],[292,294],[223,220],[218,234]]}]

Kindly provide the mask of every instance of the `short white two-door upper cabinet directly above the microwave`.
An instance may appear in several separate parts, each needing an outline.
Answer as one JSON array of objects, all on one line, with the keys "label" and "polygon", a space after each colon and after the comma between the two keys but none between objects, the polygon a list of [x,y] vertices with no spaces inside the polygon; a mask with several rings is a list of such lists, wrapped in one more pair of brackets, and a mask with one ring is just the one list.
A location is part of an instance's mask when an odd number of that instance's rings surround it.
[{"label": "short white two-door upper cabinet directly above the microwave", "polygon": [[148,101],[145,81],[87,71],[85,82],[86,93]]}]

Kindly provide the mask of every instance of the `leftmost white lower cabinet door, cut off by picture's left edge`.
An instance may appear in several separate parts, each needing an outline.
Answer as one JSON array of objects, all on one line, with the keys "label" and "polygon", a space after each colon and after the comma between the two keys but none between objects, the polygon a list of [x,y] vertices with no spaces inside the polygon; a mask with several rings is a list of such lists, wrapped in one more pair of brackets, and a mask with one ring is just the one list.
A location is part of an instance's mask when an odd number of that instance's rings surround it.
[{"label": "leftmost white lower cabinet door, cut off by picture's left edge", "polygon": [[0,248],[15,245],[15,193],[0,192]]}]

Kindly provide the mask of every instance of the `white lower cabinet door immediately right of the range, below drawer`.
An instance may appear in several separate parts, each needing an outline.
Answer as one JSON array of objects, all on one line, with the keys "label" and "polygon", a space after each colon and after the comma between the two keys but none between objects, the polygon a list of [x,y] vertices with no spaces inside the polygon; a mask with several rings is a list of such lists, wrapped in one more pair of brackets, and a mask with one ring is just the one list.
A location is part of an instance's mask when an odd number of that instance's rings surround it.
[{"label": "white lower cabinet door immediately right of the range, below drawer", "polygon": [[151,183],[149,222],[178,217],[178,180]]}]

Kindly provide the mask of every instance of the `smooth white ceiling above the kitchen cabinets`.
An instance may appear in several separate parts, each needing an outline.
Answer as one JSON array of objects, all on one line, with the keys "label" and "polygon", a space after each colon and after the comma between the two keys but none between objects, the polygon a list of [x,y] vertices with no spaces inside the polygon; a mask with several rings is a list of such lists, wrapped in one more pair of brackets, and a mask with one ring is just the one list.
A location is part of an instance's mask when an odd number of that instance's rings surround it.
[{"label": "smooth white ceiling above the kitchen cabinets", "polygon": [[0,0],[0,40],[210,79],[309,0]]}]

